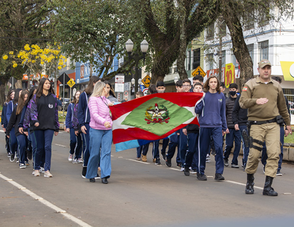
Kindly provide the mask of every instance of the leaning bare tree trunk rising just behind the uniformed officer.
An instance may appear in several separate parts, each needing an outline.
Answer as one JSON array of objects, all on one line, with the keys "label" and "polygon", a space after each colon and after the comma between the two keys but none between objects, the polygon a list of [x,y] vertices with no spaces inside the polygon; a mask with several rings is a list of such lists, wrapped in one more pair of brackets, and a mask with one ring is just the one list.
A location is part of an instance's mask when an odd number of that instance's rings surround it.
[{"label": "leaning bare tree trunk rising just behind the uniformed officer", "polygon": [[240,64],[240,91],[245,82],[253,78],[253,63],[247,45],[244,40],[242,25],[239,15],[234,9],[238,9],[238,4],[234,0],[221,0],[223,16],[229,28],[233,43],[233,53]]}]

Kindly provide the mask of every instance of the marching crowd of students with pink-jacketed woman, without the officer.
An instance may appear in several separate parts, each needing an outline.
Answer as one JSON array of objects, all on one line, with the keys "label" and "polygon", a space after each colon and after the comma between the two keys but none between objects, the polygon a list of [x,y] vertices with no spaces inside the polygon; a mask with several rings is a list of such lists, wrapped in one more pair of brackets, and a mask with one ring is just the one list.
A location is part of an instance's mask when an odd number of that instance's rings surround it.
[{"label": "marching crowd of students with pink-jacketed woman, without the officer", "polygon": [[[272,79],[281,82],[279,77]],[[215,156],[215,180],[224,180],[223,171],[229,166],[228,159],[235,142],[232,168],[239,168],[238,156],[241,140],[243,140],[242,167],[245,171],[249,147],[245,146],[242,132],[247,132],[248,112],[239,104],[238,86],[232,83],[228,87],[229,97],[223,91],[224,84],[216,76],[209,76],[203,84],[203,77],[193,77],[193,84],[189,79],[176,82],[176,92],[204,92],[204,98],[196,105],[199,125],[189,124],[164,139],[161,156],[167,167],[171,167],[171,160],[175,154],[176,165],[181,167],[184,175],[197,174],[197,179],[207,180],[205,175],[206,162],[210,162],[210,155]],[[165,84],[161,81],[156,86],[151,85],[149,93],[165,92]],[[136,98],[143,96],[143,92],[136,93]],[[177,95],[174,93],[174,95]],[[286,99],[286,98],[285,98]],[[83,163],[82,177],[90,182],[101,179],[108,183],[111,175],[111,144],[112,119],[109,106],[117,103],[117,99],[108,81],[101,82],[100,78],[92,76],[84,91],[78,90],[73,101],[69,104],[64,131],[70,133],[70,151],[68,160],[73,164]],[[288,100],[286,100],[288,103]],[[58,135],[58,105],[49,79],[42,78],[38,87],[30,91],[16,89],[9,91],[3,106],[1,125],[6,133],[7,156],[11,162],[17,160],[19,168],[26,168],[29,160],[33,160],[33,174],[52,177],[51,144],[53,135]],[[289,106],[288,112],[290,114]],[[283,130],[281,125],[281,143],[283,144]],[[225,150],[223,141],[225,136]],[[166,148],[168,150],[166,152]],[[137,161],[147,162],[149,144],[137,148]],[[282,173],[283,145],[280,147],[280,160],[276,175]],[[153,162],[160,165],[159,140],[153,141]],[[262,163],[265,169],[267,161],[266,146],[263,143]],[[83,160],[82,160],[83,157]],[[101,171],[101,177],[98,174]],[[253,188],[253,186],[252,186]]]}]

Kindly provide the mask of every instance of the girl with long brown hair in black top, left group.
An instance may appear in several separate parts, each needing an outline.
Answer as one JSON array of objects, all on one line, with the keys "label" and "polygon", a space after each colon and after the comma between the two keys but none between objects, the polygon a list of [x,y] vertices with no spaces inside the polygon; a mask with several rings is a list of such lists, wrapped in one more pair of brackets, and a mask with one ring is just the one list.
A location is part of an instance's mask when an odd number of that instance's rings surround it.
[{"label": "girl with long brown hair in black top, left group", "polygon": [[25,101],[28,98],[29,92],[23,90],[19,97],[18,105],[14,108],[8,126],[6,128],[6,135],[9,135],[12,128],[14,128],[14,134],[18,142],[18,157],[19,157],[19,168],[26,168],[26,135],[22,130],[19,130],[19,122],[21,121],[21,113],[24,111]]}]

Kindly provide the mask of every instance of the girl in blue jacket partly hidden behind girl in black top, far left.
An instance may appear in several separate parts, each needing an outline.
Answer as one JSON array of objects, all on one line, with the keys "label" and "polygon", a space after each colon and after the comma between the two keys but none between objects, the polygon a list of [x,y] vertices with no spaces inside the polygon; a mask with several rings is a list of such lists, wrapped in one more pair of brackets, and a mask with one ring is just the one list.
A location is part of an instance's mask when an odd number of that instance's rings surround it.
[{"label": "girl in blue jacket partly hidden behind girl in black top, far left", "polygon": [[[15,89],[14,99],[11,100],[7,105],[7,112],[6,112],[7,122],[9,122],[12,111],[17,106],[21,91],[22,91],[22,89],[20,89],[20,88]],[[10,131],[9,147],[10,147],[10,152],[11,152],[10,161],[14,162],[14,160],[17,158],[17,139],[14,134],[14,128],[12,128]]]}]

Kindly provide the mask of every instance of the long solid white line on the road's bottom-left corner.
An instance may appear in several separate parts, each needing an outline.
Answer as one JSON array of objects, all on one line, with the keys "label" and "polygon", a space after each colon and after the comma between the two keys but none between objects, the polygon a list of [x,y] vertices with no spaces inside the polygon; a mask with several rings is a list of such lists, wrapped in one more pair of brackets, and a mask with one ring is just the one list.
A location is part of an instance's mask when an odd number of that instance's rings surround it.
[{"label": "long solid white line on the road's bottom-left corner", "polygon": [[4,179],[5,181],[9,182],[10,184],[14,185],[15,187],[17,187],[18,189],[20,189],[21,191],[25,192],[26,194],[28,194],[29,196],[31,196],[32,198],[34,198],[35,200],[41,202],[42,204],[50,207],[51,209],[55,210],[56,213],[61,213],[63,216],[65,216],[66,218],[68,218],[69,220],[77,223],[78,225],[82,226],[82,227],[92,227],[90,226],[88,223],[76,218],[75,216],[67,213],[65,210],[62,210],[61,208],[59,208],[58,206],[55,206],[54,204],[50,203],[49,201],[47,201],[46,199],[38,196],[37,194],[35,194],[34,192],[31,192],[29,189],[26,189],[24,186],[18,184],[17,182],[5,177],[4,175],[2,175],[0,173],[0,177],[2,179]]}]

